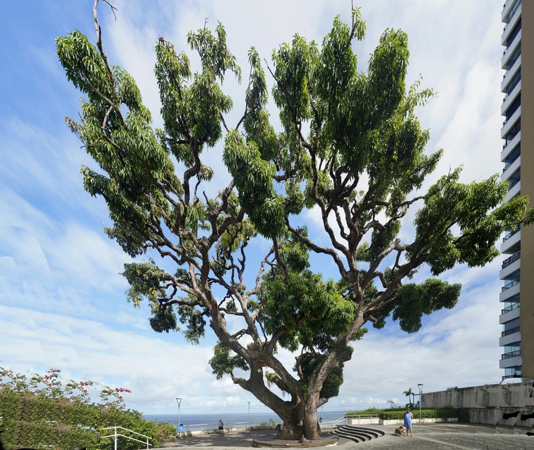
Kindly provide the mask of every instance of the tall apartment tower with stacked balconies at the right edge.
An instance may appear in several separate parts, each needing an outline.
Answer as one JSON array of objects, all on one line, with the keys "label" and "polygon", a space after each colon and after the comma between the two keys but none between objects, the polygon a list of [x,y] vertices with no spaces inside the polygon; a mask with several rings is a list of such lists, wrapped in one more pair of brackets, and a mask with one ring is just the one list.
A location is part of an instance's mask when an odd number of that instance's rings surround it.
[{"label": "tall apartment tower with stacked balconies at the right edge", "polygon": [[[507,0],[501,18],[504,201],[520,194],[534,199],[534,1]],[[501,252],[503,379],[534,378],[534,225],[507,230]]]}]

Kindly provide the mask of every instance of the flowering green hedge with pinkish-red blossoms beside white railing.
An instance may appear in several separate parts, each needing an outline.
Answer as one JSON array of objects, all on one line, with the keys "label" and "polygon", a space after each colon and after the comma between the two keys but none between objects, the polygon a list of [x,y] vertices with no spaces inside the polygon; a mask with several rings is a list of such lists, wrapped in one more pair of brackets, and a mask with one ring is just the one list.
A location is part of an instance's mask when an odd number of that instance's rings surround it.
[{"label": "flowering green hedge with pinkish-red blossoms beside white railing", "polygon": [[[124,388],[102,386],[103,403],[92,403],[88,394],[91,382],[60,380],[60,371],[50,369],[44,376],[31,379],[0,368],[1,442],[6,449],[17,447],[58,449],[113,449],[113,434],[108,426],[122,426],[152,437],[159,444],[161,431],[154,422],[145,421],[140,412],[124,410]],[[121,438],[121,449],[138,449],[138,445]]]}]

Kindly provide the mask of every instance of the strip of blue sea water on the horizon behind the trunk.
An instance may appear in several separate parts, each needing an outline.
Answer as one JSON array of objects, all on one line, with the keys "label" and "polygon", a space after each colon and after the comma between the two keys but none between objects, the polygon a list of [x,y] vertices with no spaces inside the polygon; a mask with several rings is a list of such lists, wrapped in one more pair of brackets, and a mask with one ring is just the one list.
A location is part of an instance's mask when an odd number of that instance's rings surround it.
[{"label": "strip of blue sea water on the horizon behind the trunk", "polygon": [[[317,419],[320,419],[320,417],[322,417],[324,421],[336,420],[340,419],[347,412],[351,411],[352,410],[323,411],[322,414],[321,411],[318,411]],[[177,412],[174,414],[143,414],[143,418],[156,422],[168,422],[175,426],[179,424]],[[275,423],[279,423],[282,421],[282,419],[280,419],[280,417],[278,417],[272,411],[250,412],[250,415],[248,414],[248,412],[209,412],[206,414],[180,414],[180,421],[181,424],[184,425],[184,427],[197,428],[202,426],[203,428],[217,428],[217,423],[219,419],[223,421],[226,428],[234,428],[234,426],[236,425],[247,426],[249,421],[251,424],[268,423],[271,420]]]}]

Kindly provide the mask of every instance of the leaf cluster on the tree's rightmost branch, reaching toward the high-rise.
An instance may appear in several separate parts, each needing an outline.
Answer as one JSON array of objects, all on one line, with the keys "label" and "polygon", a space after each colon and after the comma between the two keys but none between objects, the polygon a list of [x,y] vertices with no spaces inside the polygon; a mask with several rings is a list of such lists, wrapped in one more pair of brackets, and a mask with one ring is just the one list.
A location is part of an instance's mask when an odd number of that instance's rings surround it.
[{"label": "leaf cluster on the tree's rightmost branch, reaching toward the high-rise", "polygon": [[471,184],[459,183],[459,176],[460,169],[454,170],[431,186],[414,221],[416,240],[408,256],[424,257],[434,275],[458,263],[483,266],[494,259],[503,218],[520,220],[526,207],[524,197],[499,206],[507,186],[498,175]]}]

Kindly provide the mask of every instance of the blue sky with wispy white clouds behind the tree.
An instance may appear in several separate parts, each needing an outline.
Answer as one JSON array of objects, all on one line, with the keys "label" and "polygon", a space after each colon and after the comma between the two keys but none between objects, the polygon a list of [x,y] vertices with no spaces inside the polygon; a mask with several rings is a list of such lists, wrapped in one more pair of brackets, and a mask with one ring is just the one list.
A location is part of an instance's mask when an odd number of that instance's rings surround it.
[{"label": "blue sky with wispy white clouds behind the tree", "polygon": [[[251,45],[270,61],[273,49],[294,33],[321,42],[334,15],[347,22],[350,17],[346,0],[113,4],[116,20],[104,4],[99,7],[104,47],[110,61],[138,82],[156,127],[161,120],[153,67],[159,35],[188,50],[189,29],[204,26],[206,18],[209,26],[222,22],[246,73]],[[460,165],[465,182],[501,172],[502,2],[366,0],[360,6],[367,25],[366,40],[355,45],[360,67],[384,29],[402,28],[410,40],[410,80],[421,75],[422,86],[439,93],[419,113],[432,136],[428,150],[445,150],[433,177]],[[65,378],[127,387],[132,390],[128,406],[145,413],[175,412],[176,396],[184,398],[183,413],[243,412],[248,401],[251,411],[264,411],[229,379],[215,380],[207,364],[213,337],[191,346],[176,333],[156,335],[147,310],[134,310],[125,300],[127,283],[119,274],[128,257],[102,231],[110,225],[102,200],[83,191],[79,169],[92,162],[64,122],[67,115],[76,118],[80,94],[63,74],[54,39],[74,29],[94,41],[92,0],[3,6],[0,365],[22,373],[58,367]],[[230,82],[228,92],[236,97],[238,115],[243,87]],[[222,165],[220,149],[209,157],[213,168]],[[224,179],[223,172],[214,183]],[[312,235],[318,232],[317,219],[314,211],[302,217]],[[407,220],[402,235],[410,232]],[[418,383],[430,392],[499,382],[500,262],[444,274],[463,284],[460,303],[425,319],[416,335],[396,324],[371,330],[355,344],[341,393],[325,410],[403,403],[403,391],[416,390]],[[290,355],[281,357],[292,365]]]}]

